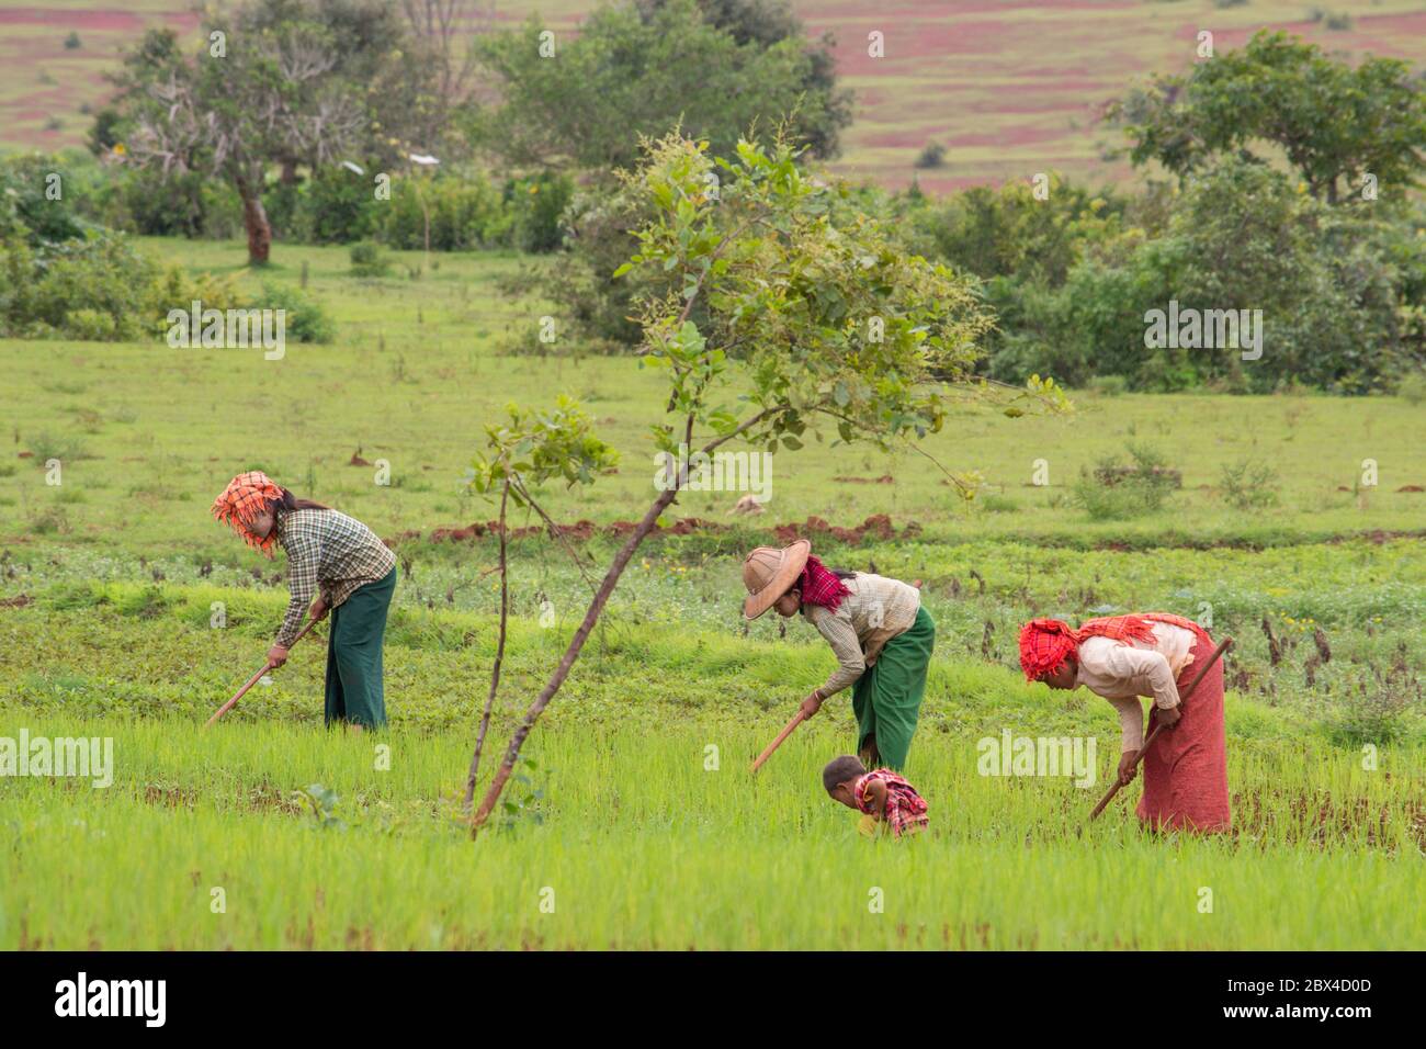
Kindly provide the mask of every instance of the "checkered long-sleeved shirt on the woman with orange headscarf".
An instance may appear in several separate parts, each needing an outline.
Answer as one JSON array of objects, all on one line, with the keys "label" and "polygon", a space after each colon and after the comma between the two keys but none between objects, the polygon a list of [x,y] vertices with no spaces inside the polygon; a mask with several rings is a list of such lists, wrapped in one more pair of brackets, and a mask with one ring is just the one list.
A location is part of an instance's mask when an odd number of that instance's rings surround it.
[{"label": "checkered long-sleeved shirt on the woman with orange headscarf", "polygon": [[291,510],[278,517],[277,538],[287,551],[287,585],[292,599],[277,634],[277,644],[291,645],[302,629],[302,617],[321,588],[328,608],[337,608],[352,591],[386,578],[396,567],[376,534],[337,510]]}]

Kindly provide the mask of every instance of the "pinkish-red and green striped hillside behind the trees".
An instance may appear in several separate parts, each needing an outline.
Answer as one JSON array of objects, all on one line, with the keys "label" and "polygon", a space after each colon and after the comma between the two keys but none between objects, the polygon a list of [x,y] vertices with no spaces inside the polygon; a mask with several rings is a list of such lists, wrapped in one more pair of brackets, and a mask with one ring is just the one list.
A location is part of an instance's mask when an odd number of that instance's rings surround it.
[{"label": "pinkish-red and green striped hillside behind the trees", "polygon": [[[197,26],[181,0],[133,0],[124,10],[91,0],[43,9],[0,0],[0,144],[78,146],[90,126],[83,106],[106,97],[103,74],[120,47],[145,26]],[[496,20],[539,13],[578,31],[592,0],[502,0]],[[1194,61],[1196,36],[1218,50],[1242,46],[1258,29],[1283,29],[1330,50],[1426,59],[1420,0],[1338,0],[1320,10],[1346,16],[1343,29],[1313,19],[1303,0],[908,0],[877,7],[860,0],[796,0],[809,33],[833,33],[843,83],[857,93],[856,123],[834,168],[884,186],[906,186],[931,141],[947,147],[941,168],[920,171],[923,187],[1030,178],[1061,170],[1124,178],[1105,160],[1118,146],[1101,124],[1104,106],[1139,77]],[[64,39],[78,34],[80,47]],[[868,34],[884,34],[884,57],[868,56]]]}]

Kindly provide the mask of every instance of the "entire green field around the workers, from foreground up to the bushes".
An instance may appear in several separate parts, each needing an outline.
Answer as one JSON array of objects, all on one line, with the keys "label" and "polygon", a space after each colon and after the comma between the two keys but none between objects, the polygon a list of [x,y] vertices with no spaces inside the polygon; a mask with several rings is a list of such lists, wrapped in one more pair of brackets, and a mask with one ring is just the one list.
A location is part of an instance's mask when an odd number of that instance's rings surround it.
[{"label": "entire green field around the workers, from foreground up to the bushes", "polygon": [[[147,247],[251,280],[238,244]],[[472,845],[459,789],[493,655],[495,549],[438,529],[493,517],[461,484],[482,424],[568,392],[622,461],[588,492],[542,498],[559,521],[593,522],[576,551],[600,569],[606,527],[655,495],[659,387],[632,360],[502,355],[509,324],[549,310],[495,294],[511,257],[376,281],[349,277],[341,250],[279,244],[274,260],[279,283],[305,265],[338,325],[331,345],[265,361],[0,341],[0,738],[114,748],[106,788],[0,776],[0,948],[1426,946],[1426,494],[1399,491],[1426,487],[1420,405],[1077,394],[1060,417],[965,410],[930,450],[985,477],[971,507],[915,455],[780,452],[761,517],[729,517],[732,494],[680,500],[670,524],[707,524],[636,559],[532,736],[519,808]],[[1182,490],[1158,512],[1089,521],[1075,478],[1134,441],[1155,444]],[[388,460],[392,484],[349,465],[356,452]],[[1047,487],[1031,484],[1038,458]],[[1275,507],[1225,500],[1222,467],[1245,458],[1278,471]],[[1365,458],[1376,488],[1359,484]],[[309,642],[198,731],[261,662],[285,602],[281,558],[207,512],[254,465],[398,552],[381,736],[321,731]],[[807,522],[874,514],[887,527]],[[766,775],[746,772],[831,664],[803,624],[739,619],[742,552],[794,522],[833,564],[924,581],[938,634],[907,769],[931,804],[918,841],[863,841],[824,796],[821,764],[851,748],[843,698]],[[539,535],[512,558],[492,755],[589,594]],[[1122,798],[1081,836],[1118,752],[1114,711],[1027,686],[1014,667],[1028,615],[1144,608],[1238,638],[1222,839],[1147,836]],[[1094,739],[1092,782],[981,775],[981,741],[1004,732]],[[304,794],[314,785],[325,801]]]}]

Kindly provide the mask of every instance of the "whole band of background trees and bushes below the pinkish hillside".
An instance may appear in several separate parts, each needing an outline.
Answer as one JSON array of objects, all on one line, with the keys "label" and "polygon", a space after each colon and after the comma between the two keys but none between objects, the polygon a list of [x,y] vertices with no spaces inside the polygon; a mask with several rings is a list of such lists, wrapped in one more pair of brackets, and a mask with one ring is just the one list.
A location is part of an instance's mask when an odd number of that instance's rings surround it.
[{"label": "whole band of background trees and bushes below the pinkish hillside", "polygon": [[[96,114],[98,161],[54,161],[83,186],[74,216],[242,231],[254,263],[274,237],[558,251],[508,291],[559,303],[566,345],[630,353],[635,303],[677,293],[646,268],[613,275],[653,214],[622,176],[640,143],[679,130],[734,156],[776,131],[816,161],[851,118],[833,41],[787,0],[620,0],[578,34],[495,30],[485,3],[247,0],[205,13],[198,46],[148,31]],[[829,218],[887,221],[903,250],[975,278],[998,318],[991,378],[1358,394],[1422,371],[1426,100],[1407,64],[1263,31],[1129,90],[1108,120],[1129,187],[1047,171],[933,198],[823,176]],[[1171,303],[1261,311],[1261,358],[1147,341]],[[533,327],[513,345],[549,351]]]}]

